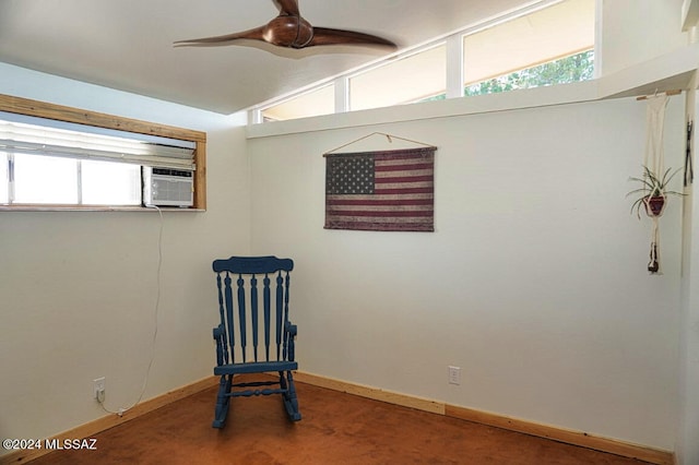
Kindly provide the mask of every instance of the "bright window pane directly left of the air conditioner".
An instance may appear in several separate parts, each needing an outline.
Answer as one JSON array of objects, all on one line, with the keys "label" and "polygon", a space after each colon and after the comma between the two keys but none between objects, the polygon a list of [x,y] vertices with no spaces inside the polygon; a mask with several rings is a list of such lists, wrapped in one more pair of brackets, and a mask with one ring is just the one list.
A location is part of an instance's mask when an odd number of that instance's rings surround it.
[{"label": "bright window pane directly left of the air conditioner", "polygon": [[141,204],[140,166],[93,160],[82,160],[81,164],[83,204]]}]

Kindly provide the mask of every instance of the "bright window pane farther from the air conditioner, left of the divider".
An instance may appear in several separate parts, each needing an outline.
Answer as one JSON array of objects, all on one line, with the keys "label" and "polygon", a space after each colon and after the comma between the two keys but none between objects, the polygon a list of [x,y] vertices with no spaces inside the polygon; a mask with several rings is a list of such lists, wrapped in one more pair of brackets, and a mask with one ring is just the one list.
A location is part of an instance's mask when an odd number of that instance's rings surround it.
[{"label": "bright window pane farther from the air conditioner, left of the divider", "polygon": [[14,157],[16,203],[76,204],[78,160],[43,155]]}]

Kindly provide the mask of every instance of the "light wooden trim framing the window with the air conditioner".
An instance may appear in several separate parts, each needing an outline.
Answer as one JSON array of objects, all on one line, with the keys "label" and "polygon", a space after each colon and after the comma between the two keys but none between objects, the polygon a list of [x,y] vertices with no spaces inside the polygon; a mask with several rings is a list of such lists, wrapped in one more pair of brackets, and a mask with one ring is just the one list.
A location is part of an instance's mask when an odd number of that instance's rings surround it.
[{"label": "light wooden trim framing the window with the air conditioner", "polygon": [[[0,111],[194,142],[197,144],[194,148],[194,163],[197,165],[197,170],[194,171],[194,204],[189,210],[206,210],[205,132],[141,121],[130,118],[122,118],[118,116],[2,94],[0,94]],[[26,206],[22,207],[22,210],[26,208]],[[37,205],[36,210],[60,210],[60,207],[51,208],[47,205]],[[94,210],[94,207],[88,210]],[[120,208],[107,207],[107,210]],[[123,210],[133,210],[133,207],[127,207]]]}]

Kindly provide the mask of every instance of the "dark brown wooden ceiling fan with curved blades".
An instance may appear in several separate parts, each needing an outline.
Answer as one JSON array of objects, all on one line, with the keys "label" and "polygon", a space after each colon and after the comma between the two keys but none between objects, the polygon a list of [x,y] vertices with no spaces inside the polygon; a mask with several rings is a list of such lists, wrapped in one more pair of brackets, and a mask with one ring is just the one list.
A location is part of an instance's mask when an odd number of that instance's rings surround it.
[{"label": "dark brown wooden ceiling fan with curved blades", "polygon": [[395,49],[392,41],[354,31],[313,27],[298,9],[298,0],[274,0],[280,9],[279,16],[263,26],[224,36],[178,40],[175,46],[223,46],[236,45],[236,40],[261,40],[277,47],[306,48],[319,45],[360,45]]}]

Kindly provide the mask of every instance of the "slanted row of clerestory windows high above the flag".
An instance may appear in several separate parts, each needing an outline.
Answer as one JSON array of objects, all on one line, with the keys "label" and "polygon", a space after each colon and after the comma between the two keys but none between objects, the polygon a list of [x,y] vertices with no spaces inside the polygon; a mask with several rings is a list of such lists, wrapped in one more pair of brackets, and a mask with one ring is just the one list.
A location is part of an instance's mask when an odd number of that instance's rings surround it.
[{"label": "slanted row of clerestory windows high above the flag", "polygon": [[[594,78],[595,3],[547,1],[508,12],[454,33],[460,50],[448,49],[454,47],[453,40],[451,45],[443,38],[436,40],[336,79],[346,85],[323,84],[322,92],[306,91],[265,106],[260,109],[261,120],[325,115],[337,103],[347,105],[335,106],[335,112],[446,99],[447,82],[462,78],[463,87],[450,90],[450,97],[590,80]],[[461,56],[458,65],[454,56]],[[460,75],[448,75],[455,72]]]}]

